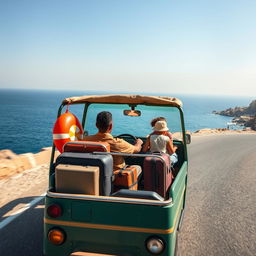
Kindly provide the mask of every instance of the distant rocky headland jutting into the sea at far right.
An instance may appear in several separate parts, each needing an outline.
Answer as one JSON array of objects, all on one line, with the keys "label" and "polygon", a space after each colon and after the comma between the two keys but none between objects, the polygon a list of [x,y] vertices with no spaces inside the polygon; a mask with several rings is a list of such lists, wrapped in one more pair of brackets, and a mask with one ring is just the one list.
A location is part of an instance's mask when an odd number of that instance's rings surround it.
[{"label": "distant rocky headland jutting into the sea at far right", "polygon": [[214,114],[234,117],[233,122],[256,130],[256,100],[248,107],[228,108],[222,111],[213,111]]}]

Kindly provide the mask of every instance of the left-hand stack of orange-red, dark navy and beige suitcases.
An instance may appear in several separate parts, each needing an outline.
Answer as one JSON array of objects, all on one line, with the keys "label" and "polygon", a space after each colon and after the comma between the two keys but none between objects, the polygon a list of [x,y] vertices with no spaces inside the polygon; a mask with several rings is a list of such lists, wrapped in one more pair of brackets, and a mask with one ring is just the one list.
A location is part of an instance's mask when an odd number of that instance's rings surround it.
[{"label": "left-hand stack of orange-red, dark navy and beige suitcases", "polygon": [[97,154],[109,150],[106,143],[75,142],[64,146],[64,150],[68,152],[56,159],[56,192],[103,196],[112,193],[112,156]]}]

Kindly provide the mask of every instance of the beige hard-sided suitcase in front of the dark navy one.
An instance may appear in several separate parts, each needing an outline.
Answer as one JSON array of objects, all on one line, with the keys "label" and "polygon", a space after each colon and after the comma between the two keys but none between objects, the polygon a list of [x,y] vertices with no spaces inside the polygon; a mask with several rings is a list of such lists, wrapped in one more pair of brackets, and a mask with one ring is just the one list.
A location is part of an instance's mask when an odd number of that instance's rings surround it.
[{"label": "beige hard-sided suitcase in front of the dark navy one", "polygon": [[55,168],[56,192],[99,195],[99,167],[59,164]]}]

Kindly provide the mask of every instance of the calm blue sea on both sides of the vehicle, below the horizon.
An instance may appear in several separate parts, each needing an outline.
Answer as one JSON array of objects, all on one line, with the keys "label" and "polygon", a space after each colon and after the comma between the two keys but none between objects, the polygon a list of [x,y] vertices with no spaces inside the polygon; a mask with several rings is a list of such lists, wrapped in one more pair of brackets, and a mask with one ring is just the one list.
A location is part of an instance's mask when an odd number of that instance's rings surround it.
[{"label": "calm blue sea on both sides of the vehicle, below the horizon", "polygon": [[[62,100],[71,96],[89,94],[115,93],[0,89],[0,150],[10,149],[16,154],[37,153],[41,148],[51,146],[52,129]],[[149,95],[149,93],[141,94]],[[232,118],[215,115],[212,112],[230,107],[248,106],[255,99],[255,97],[185,94],[175,94],[175,97],[183,102],[185,127],[191,132],[204,128],[226,128]],[[242,128],[234,127],[234,129]]]}]

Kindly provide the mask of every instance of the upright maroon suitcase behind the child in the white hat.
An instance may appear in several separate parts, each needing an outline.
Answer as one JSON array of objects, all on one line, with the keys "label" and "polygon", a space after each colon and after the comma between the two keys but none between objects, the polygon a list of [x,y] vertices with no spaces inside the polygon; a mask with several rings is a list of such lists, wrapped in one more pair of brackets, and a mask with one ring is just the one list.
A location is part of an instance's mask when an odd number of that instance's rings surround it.
[{"label": "upright maroon suitcase behind the child in the white hat", "polygon": [[173,175],[170,167],[170,156],[159,153],[150,157],[145,157],[143,163],[144,170],[144,190],[155,191],[160,196],[166,198]]}]

